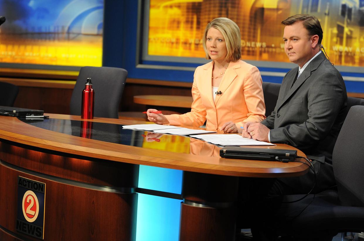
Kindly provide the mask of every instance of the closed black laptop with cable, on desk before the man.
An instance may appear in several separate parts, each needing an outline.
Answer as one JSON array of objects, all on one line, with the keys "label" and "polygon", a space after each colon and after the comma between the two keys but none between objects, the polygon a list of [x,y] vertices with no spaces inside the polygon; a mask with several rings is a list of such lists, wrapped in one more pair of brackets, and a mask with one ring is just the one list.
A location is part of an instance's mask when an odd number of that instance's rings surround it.
[{"label": "closed black laptop with cable, on desk before the man", "polygon": [[230,146],[222,148],[220,156],[232,159],[292,162],[297,157],[297,151]]}]

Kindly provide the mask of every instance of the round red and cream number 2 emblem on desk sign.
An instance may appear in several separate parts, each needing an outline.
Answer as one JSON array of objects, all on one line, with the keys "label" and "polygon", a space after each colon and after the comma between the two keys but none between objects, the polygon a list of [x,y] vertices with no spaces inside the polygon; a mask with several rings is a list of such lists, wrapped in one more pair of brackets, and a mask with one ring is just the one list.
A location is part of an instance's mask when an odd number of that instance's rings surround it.
[{"label": "round red and cream number 2 emblem on desk sign", "polygon": [[35,193],[31,190],[26,191],[21,204],[25,220],[28,222],[34,222],[39,213],[39,202]]}]

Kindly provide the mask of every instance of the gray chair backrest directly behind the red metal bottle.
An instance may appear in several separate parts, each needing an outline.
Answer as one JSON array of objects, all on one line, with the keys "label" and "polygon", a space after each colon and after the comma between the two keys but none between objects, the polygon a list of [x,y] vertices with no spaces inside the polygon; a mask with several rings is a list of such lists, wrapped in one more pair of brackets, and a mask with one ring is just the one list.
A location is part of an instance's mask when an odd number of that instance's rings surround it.
[{"label": "gray chair backrest directly behind the red metal bottle", "polygon": [[91,78],[95,91],[94,116],[118,118],[118,108],[128,72],[113,67],[82,67],[72,92],[70,114],[81,115],[82,90]]}]

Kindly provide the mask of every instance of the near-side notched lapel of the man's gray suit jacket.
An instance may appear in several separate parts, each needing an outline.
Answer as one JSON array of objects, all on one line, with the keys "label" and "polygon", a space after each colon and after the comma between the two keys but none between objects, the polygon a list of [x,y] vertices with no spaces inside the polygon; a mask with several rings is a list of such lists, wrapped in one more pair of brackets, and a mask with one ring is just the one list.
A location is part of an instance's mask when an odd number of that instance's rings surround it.
[{"label": "near-side notched lapel of the man's gray suit jacket", "polygon": [[[311,76],[311,73],[318,68],[318,66],[321,64],[322,61],[326,59],[325,55],[323,53],[319,54],[314,58],[305,68],[305,70],[302,72],[300,77],[294,82],[294,85],[292,86],[293,78],[291,77],[290,82],[288,85],[286,85],[285,89],[285,95],[278,106],[277,110],[286,102],[291,95],[296,92],[296,90]],[[296,72],[293,72],[296,73]],[[292,75],[291,75],[292,76]],[[294,78],[297,78],[297,73],[294,75]],[[290,88],[292,86],[292,88]],[[290,88],[290,89],[289,89]]]}]

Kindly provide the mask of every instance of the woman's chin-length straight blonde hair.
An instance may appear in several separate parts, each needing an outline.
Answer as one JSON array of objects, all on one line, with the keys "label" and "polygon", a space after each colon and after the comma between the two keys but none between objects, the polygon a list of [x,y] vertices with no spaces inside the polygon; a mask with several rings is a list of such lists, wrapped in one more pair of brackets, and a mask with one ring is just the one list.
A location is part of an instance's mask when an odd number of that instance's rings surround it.
[{"label": "woman's chin-length straight blonde hair", "polygon": [[236,62],[241,58],[241,36],[238,25],[231,19],[226,17],[218,17],[207,24],[205,34],[202,39],[203,49],[205,50],[207,60],[210,60],[209,51],[206,48],[206,36],[210,28],[218,29],[226,43],[226,58],[227,62]]}]

